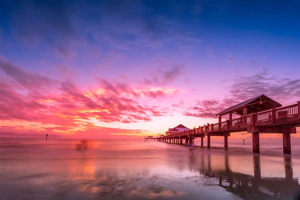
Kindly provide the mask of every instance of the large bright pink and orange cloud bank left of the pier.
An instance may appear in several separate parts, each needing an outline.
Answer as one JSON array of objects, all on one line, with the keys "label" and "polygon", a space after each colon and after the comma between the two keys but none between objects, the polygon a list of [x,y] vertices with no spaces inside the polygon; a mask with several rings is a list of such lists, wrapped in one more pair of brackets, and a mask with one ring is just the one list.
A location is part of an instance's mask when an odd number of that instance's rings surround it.
[{"label": "large bright pink and orange cloud bank left of the pier", "polygon": [[3,57],[1,69],[6,74],[5,82],[0,85],[1,120],[51,125],[44,128],[47,131],[74,132],[73,129],[79,130],[90,121],[125,124],[151,121],[164,114],[164,108],[152,105],[151,99],[176,92],[170,88],[137,88],[105,79],[98,80],[95,90],[83,90],[70,80],[54,80],[22,70]]}]

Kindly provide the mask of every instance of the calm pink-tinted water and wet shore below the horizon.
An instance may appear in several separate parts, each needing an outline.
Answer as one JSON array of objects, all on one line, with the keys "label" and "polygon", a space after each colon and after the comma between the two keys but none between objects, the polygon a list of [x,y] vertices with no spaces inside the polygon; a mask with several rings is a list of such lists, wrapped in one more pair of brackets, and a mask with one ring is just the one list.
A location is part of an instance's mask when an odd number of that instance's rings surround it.
[{"label": "calm pink-tinted water and wet shore below the horizon", "polygon": [[0,199],[300,198],[300,145],[195,141],[0,138]]}]

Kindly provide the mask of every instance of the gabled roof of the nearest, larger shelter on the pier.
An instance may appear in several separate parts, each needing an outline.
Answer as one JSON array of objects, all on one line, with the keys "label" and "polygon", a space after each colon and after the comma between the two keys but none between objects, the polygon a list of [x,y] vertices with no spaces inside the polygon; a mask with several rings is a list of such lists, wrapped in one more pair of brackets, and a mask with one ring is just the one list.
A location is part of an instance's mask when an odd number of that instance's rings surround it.
[{"label": "gabled roof of the nearest, larger shelter on the pier", "polygon": [[[257,97],[253,97],[247,101],[244,101],[242,103],[238,103],[234,106],[231,106],[222,112],[218,113],[217,115],[225,115],[230,112],[237,114],[237,115],[243,115],[243,108],[247,107],[247,115],[250,113],[257,113],[262,112],[265,110],[269,110],[272,108],[278,108],[282,105],[278,103],[277,101],[271,99],[270,97],[267,97],[264,94],[258,95]],[[216,115],[216,116],[217,116]]]}]

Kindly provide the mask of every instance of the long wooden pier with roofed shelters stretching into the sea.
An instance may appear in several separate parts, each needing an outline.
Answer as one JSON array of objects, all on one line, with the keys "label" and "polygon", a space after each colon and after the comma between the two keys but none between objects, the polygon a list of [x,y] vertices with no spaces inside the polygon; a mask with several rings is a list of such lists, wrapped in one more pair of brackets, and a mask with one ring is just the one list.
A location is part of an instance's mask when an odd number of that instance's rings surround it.
[{"label": "long wooden pier with roofed shelters stretching into the sea", "polygon": [[[219,122],[197,128],[188,129],[182,124],[169,129],[166,136],[155,138],[159,142],[174,144],[193,143],[195,138],[207,137],[207,147],[210,147],[211,136],[223,136],[224,147],[228,147],[228,137],[231,133],[252,133],[253,153],[259,153],[259,133],[282,133],[283,154],[291,154],[291,136],[296,133],[296,127],[300,127],[300,101],[296,104],[281,107],[282,105],[273,99],[261,94],[257,97],[239,103],[218,113]],[[222,121],[223,115],[229,115],[229,119]],[[232,114],[241,115],[232,119]],[[180,130],[180,129],[184,130]],[[154,139],[154,138],[151,138]]]}]

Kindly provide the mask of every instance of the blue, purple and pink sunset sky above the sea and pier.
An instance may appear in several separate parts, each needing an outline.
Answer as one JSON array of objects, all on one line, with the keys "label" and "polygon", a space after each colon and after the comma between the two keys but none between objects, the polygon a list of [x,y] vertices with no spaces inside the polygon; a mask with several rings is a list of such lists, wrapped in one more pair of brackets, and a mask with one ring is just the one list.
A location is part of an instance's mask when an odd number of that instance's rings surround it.
[{"label": "blue, purple and pink sunset sky above the sea and pier", "polygon": [[1,137],[143,139],[300,100],[300,1],[0,3]]}]

